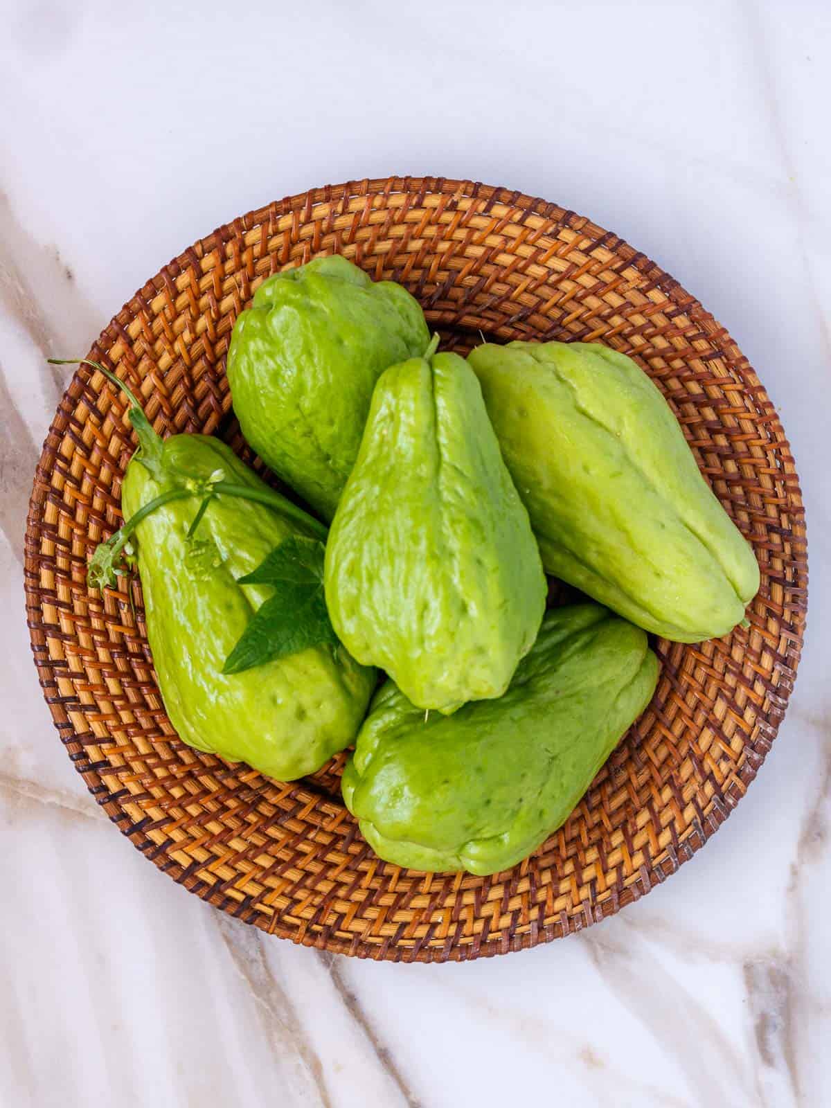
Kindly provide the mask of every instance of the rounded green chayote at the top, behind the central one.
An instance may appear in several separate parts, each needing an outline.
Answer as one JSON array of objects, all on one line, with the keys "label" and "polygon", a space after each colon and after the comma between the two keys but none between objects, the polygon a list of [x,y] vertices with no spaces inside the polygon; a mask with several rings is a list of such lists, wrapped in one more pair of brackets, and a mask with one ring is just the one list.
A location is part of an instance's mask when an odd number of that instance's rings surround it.
[{"label": "rounded green chayote at the top, behind the central one", "polygon": [[417,300],[340,255],[264,281],[234,325],[227,373],[243,434],[263,461],[330,520],[351,472],[372,389],[424,352]]}]

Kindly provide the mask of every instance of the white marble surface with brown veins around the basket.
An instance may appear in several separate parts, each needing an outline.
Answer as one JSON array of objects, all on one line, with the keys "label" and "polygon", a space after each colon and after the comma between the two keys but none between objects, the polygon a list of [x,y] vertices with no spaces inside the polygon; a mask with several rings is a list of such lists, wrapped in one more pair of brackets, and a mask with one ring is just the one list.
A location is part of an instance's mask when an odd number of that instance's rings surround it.
[{"label": "white marble surface with brown veins around the basket", "polygon": [[[827,0],[0,2],[0,1105],[831,1104]],[[462,966],[329,960],[187,895],[63,753],[21,546],[68,373],[170,257],[311,185],[442,173],[557,201],[725,322],[809,510],[797,691],[667,884]]]}]

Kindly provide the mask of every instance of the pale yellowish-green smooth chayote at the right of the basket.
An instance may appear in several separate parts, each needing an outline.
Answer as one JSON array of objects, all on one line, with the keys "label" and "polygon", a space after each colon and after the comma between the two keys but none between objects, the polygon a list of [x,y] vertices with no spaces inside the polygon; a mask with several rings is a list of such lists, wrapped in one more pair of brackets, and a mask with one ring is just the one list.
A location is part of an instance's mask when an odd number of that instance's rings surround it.
[{"label": "pale yellowish-green smooth chayote at the right of the basket", "polygon": [[753,552],[630,358],[509,342],[468,360],[550,573],[676,642],[741,622],[759,588]]}]

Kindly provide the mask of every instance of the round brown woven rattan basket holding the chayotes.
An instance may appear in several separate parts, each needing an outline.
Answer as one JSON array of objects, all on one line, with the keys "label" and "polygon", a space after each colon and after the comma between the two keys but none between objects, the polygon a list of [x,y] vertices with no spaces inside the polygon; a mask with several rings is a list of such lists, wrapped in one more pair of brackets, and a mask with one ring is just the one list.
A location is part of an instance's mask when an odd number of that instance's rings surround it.
[{"label": "round brown woven rattan basket holding the chayotes", "polygon": [[[389,178],[294,196],[196,243],[136,293],[92,348],[163,434],[220,434],[245,456],[225,353],[269,274],[338,252],[421,301],[445,347],[597,340],[636,358],[680,420],[762,584],[750,627],[658,643],[652,705],[566,825],[492,878],[380,862],[342,806],[342,757],[283,784],[179,742],[127,585],[86,560],[120,523],[135,448],[125,403],[75,373],[38,466],[25,537],[29,626],[50,711],[99,804],[191,892],[258,927],[362,957],[442,962],[533,946],[663,881],[743,796],[782,719],[807,602],[803,509],[779,418],[727,331],[617,236],[555,204],[471,182]],[[90,382],[95,380],[93,387]]]}]

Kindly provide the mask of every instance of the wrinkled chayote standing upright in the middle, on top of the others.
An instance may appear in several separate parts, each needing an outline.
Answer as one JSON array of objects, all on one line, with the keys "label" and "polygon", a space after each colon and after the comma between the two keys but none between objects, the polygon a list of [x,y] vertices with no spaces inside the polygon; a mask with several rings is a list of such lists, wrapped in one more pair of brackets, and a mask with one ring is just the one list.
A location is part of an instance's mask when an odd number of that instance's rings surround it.
[{"label": "wrinkled chayote standing upright in the middle, on top of the others", "polygon": [[420,708],[501,696],[531,648],[545,606],[540,552],[456,355],[430,350],[379,379],[325,583],[340,640]]}]

